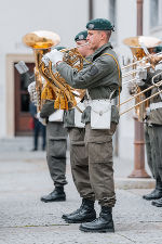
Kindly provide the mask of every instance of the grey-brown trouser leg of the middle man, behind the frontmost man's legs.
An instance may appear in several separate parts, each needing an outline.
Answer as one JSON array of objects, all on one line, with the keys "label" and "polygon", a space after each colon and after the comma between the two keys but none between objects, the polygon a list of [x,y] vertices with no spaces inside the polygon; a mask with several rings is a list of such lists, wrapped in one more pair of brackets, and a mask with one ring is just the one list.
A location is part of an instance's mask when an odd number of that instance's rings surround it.
[{"label": "grey-brown trouser leg of the middle man, behind the frontmost man's legs", "polygon": [[94,201],[94,192],[90,183],[89,157],[85,152],[84,129],[69,129],[70,164],[75,185],[83,198]]}]

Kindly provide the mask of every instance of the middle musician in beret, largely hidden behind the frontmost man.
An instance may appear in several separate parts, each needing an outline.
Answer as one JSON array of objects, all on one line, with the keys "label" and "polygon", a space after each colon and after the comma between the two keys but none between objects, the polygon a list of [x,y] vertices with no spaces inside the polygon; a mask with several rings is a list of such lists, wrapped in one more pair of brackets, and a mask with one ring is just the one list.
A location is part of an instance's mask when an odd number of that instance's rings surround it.
[{"label": "middle musician in beret, largely hidden behind the frontmost man", "polygon": [[[80,31],[76,37],[75,41],[77,43],[78,51],[84,57],[83,65],[84,67],[90,65],[90,57],[89,55],[93,53],[90,50],[86,40],[87,30]],[[70,138],[70,164],[71,164],[71,172],[75,185],[82,198],[82,207],[93,206],[94,207],[94,192],[90,187],[90,179],[84,177],[84,171],[89,171],[89,157],[85,153],[85,143],[84,143],[84,136],[85,136],[85,124],[81,123],[81,111],[84,110],[84,104],[81,101],[77,108],[69,110],[65,112],[64,115],[64,126],[68,128],[68,133]],[[93,200],[93,201],[92,201]],[[86,207],[87,209],[87,207]],[[90,220],[96,218],[96,213],[91,211]],[[71,214],[63,215],[63,219],[67,222],[82,222],[87,219],[87,213],[81,214],[80,211],[73,211]]]}]

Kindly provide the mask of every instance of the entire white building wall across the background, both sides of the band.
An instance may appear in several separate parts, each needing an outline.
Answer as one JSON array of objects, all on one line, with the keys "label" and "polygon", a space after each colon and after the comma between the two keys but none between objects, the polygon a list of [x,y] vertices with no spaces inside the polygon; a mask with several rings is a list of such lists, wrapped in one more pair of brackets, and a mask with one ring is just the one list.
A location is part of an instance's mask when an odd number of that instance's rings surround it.
[{"label": "entire white building wall across the background, both sides of the band", "polygon": [[[132,56],[123,39],[136,36],[136,0],[116,0],[116,51],[122,61]],[[150,28],[150,1],[144,0],[144,35],[162,38],[162,1],[159,0],[160,25]],[[38,3],[39,2],[39,3]],[[10,8],[9,8],[10,7]],[[109,18],[109,0],[94,0],[94,18]],[[8,53],[31,53],[24,47],[22,37],[32,30],[45,29],[56,31],[63,46],[72,47],[75,35],[84,29],[89,18],[89,0],[5,0],[0,8],[0,138],[5,137],[5,55]],[[5,23],[5,24],[2,24]],[[6,88],[8,89],[8,88]],[[121,101],[129,97],[123,87]],[[132,159],[134,150],[134,112],[121,116],[119,125],[119,155]]]}]

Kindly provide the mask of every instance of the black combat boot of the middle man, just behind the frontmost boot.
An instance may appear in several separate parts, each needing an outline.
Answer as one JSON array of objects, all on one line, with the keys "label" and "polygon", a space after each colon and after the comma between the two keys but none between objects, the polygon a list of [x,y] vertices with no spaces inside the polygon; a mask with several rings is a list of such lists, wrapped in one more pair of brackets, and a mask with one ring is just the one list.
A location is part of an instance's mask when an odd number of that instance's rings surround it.
[{"label": "black combat boot of the middle man, just behind the frontmost boot", "polygon": [[63,218],[68,223],[90,222],[94,220],[96,218],[94,202],[92,200],[83,198],[79,209],[69,215],[64,215]]}]

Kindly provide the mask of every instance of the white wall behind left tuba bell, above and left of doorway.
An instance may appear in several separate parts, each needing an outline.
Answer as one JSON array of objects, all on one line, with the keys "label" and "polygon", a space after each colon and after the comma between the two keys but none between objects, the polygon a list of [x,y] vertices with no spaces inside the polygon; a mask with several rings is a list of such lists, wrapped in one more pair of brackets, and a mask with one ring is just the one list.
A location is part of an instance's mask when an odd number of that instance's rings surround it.
[{"label": "white wall behind left tuba bell, above and left of doorway", "polygon": [[0,7],[0,138],[5,137],[5,55],[32,53],[22,37],[33,30],[52,30],[60,36],[60,44],[73,47],[73,37],[85,28],[87,0],[5,0]]}]

